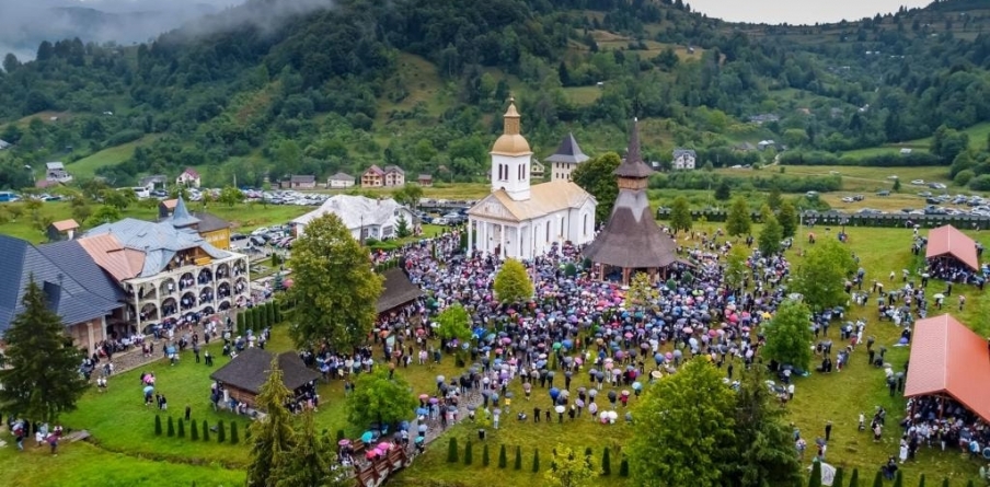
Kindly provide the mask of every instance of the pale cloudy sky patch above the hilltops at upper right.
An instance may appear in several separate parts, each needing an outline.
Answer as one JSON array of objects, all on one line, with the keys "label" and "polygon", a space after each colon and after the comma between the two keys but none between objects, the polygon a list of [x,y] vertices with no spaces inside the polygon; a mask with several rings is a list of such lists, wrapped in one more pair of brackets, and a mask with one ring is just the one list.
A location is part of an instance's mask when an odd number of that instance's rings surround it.
[{"label": "pale cloudy sky patch above the hilltops at upper right", "polygon": [[925,7],[931,0],[684,0],[692,10],[730,22],[814,24],[860,20]]}]

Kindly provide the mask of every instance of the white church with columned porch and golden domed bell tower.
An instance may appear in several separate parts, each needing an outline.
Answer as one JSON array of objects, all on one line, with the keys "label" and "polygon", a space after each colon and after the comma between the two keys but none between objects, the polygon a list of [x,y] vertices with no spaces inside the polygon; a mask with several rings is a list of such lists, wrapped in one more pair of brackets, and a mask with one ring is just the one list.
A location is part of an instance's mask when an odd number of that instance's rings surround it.
[{"label": "white church with columned porch and golden domed bell tower", "polygon": [[514,101],[505,129],[492,147],[492,194],[468,211],[468,248],[506,258],[531,259],[554,244],[595,240],[598,201],[571,181],[530,185],[532,151],[520,134]]}]

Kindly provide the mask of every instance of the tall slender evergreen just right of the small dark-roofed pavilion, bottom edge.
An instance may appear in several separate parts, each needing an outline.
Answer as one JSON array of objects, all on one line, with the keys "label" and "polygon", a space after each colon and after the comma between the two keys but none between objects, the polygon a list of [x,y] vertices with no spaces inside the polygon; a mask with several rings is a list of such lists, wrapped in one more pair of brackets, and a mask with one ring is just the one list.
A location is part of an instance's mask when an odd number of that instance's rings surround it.
[{"label": "tall slender evergreen just right of the small dark-roofed pavilion, bottom edge", "polygon": [[278,478],[276,474],[284,472],[292,462],[292,450],[298,440],[292,429],[292,416],[285,407],[291,397],[283,382],[278,360],[273,359],[268,379],[265,380],[257,396],[257,407],[266,413],[265,417],[249,427],[251,431],[249,486],[275,487]]}]

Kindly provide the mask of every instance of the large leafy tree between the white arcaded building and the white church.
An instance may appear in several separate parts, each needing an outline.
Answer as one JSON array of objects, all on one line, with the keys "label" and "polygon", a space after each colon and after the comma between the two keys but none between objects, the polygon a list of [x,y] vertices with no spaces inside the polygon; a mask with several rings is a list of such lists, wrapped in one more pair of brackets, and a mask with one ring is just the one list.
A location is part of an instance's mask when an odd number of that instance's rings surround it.
[{"label": "large leafy tree between the white arcaded building and the white church", "polygon": [[[300,348],[326,343],[349,350],[364,341],[378,317],[382,277],[339,217],[324,214],[306,225],[289,258],[292,340]],[[332,279],[329,277],[333,277]]]}]

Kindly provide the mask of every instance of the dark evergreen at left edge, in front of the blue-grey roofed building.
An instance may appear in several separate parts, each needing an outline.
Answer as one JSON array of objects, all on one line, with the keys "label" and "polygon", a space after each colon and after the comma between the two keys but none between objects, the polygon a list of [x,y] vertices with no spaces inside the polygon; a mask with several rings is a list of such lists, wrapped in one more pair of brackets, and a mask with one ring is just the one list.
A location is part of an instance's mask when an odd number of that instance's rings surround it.
[{"label": "dark evergreen at left edge, in front of the blue-grey roofed building", "polygon": [[[0,257],[3,258],[3,257]],[[34,280],[21,299],[24,310],[3,335],[0,363],[0,409],[24,418],[54,424],[61,413],[76,409],[87,390],[79,373],[83,355],[66,335],[61,317],[48,309],[48,297]]]}]

